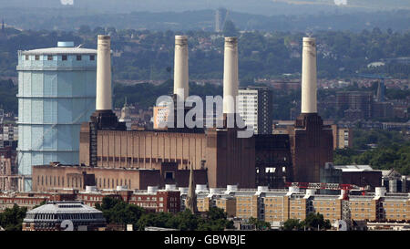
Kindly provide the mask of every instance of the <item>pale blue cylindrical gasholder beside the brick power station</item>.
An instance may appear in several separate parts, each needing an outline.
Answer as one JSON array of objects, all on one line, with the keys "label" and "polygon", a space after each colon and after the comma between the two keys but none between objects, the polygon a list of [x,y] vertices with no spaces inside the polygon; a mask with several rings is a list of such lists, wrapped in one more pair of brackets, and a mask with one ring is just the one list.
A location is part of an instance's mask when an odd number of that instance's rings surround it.
[{"label": "pale blue cylindrical gasholder beside the brick power station", "polygon": [[18,171],[31,189],[32,165],[78,163],[82,122],[96,109],[97,50],[58,42],[18,51]]}]

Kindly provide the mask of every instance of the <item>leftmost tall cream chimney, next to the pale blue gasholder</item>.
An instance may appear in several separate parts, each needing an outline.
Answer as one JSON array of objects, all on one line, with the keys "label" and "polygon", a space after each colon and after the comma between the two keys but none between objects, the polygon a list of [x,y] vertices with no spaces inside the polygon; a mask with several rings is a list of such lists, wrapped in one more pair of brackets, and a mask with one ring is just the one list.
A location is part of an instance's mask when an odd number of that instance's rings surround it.
[{"label": "leftmost tall cream chimney, next to the pale blue gasholder", "polygon": [[110,36],[98,36],[97,41],[96,109],[112,109]]}]

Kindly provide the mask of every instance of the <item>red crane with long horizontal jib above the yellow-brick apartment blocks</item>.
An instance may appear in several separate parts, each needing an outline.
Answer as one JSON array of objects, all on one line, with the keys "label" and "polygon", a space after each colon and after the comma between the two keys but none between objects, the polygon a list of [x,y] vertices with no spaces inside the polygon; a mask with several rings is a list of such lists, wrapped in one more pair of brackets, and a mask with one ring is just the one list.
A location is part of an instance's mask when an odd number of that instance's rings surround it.
[{"label": "red crane with long horizontal jib above the yellow-brick apartment blocks", "polygon": [[311,190],[331,190],[338,191],[343,190],[343,200],[348,199],[349,192],[351,190],[360,190],[364,195],[366,191],[370,190],[370,186],[359,187],[354,184],[342,184],[342,183],[326,183],[326,182],[286,182],[285,186],[298,187],[300,189],[311,189]]}]

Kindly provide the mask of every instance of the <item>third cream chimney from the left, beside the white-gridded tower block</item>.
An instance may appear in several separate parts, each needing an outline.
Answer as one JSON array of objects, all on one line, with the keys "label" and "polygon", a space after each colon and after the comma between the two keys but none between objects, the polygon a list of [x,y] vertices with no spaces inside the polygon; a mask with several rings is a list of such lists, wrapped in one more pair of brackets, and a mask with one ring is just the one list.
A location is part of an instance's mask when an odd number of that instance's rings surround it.
[{"label": "third cream chimney from the left, beside the white-gridded tower block", "polygon": [[223,113],[235,113],[238,85],[238,38],[225,37],[225,56],[223,62]]}]

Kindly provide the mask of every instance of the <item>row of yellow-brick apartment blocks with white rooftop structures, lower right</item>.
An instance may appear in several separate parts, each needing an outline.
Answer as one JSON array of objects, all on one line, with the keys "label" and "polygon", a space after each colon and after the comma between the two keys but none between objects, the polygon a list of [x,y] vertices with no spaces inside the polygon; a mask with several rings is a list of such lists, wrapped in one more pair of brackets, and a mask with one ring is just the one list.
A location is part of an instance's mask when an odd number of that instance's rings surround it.
[{"label": "row of yellow-brick apartment blocks with white rooftop structures, lower right", "polygon": [[[332,224],[339,220],[353,223],[410,220],[410,195],[385,194],[383,187],[376,187],[375,192],[360,190],[347,194],[344,190],[341,190],[340,194],[323,194],[295,187],[288,191],[267,187],[236,189],[234,186],[228,186],[226,191],[210,191],[198,194],[200,212],[207,212],[210,207],[216,206],[228,213],[228,217],[245,221],[253,217],[271,223],[272,227],[276,228],[281,227],[288,219],[302,221],[309,213],[321,213],[323,218]],[[236,211],[233,211],[233,206]]]}]

